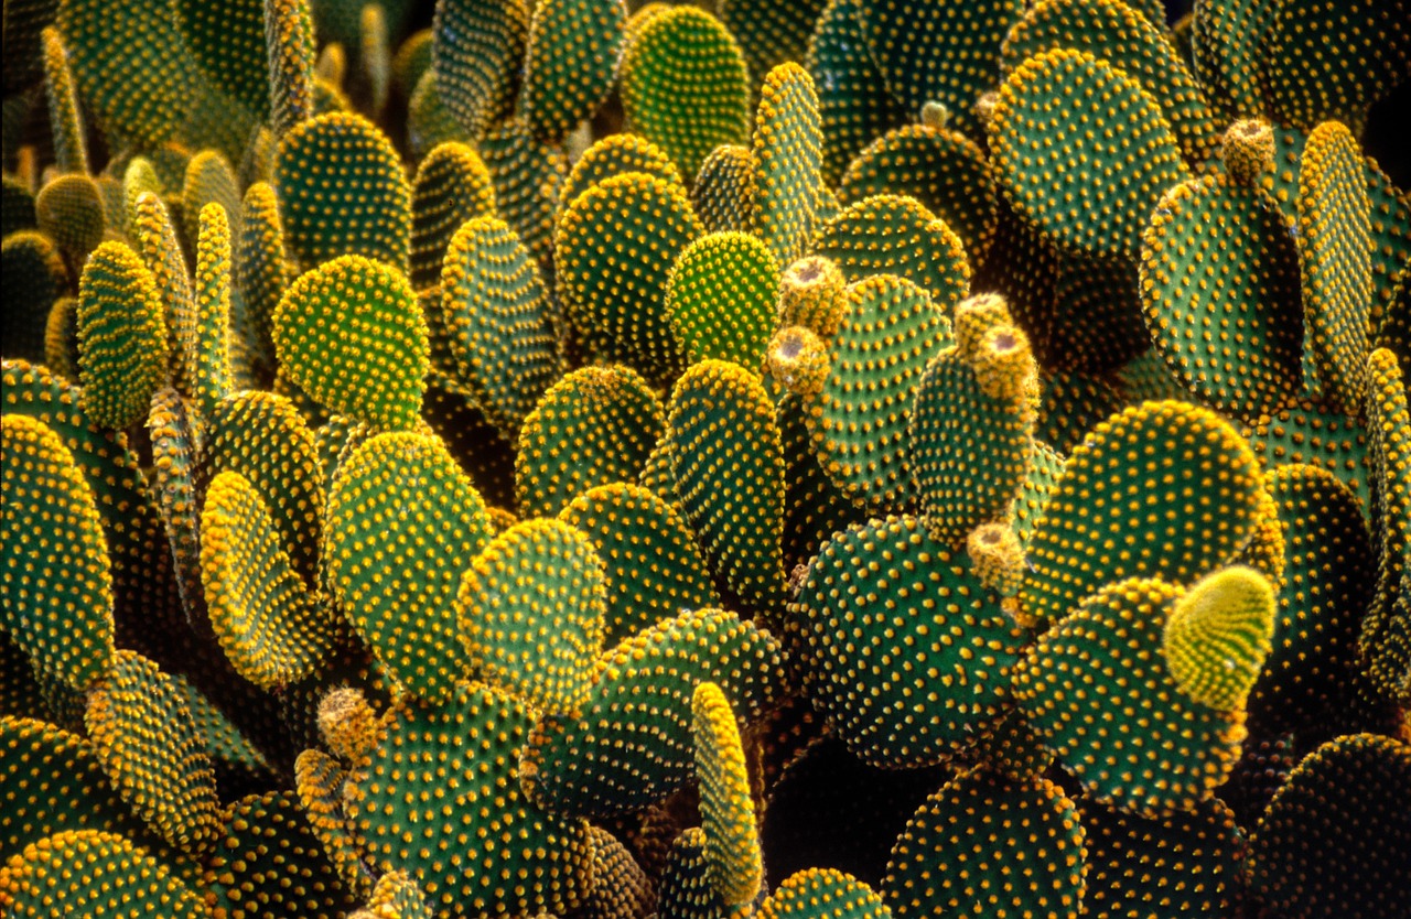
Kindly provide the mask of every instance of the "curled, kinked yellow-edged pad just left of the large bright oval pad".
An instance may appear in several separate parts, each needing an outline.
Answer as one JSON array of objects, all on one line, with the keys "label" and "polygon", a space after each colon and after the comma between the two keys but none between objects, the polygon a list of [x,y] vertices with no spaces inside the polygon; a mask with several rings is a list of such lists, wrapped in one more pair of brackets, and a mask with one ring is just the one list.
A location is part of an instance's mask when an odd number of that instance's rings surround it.
[{"label": "curled, kinked yellow-edged pad just left of the large bright oval pad", "polygon": [[340,623],[293,572],[260,492],[238,472],[210,483],[200,534],[210,624],[236,671],[262,689],[313,675]]}]

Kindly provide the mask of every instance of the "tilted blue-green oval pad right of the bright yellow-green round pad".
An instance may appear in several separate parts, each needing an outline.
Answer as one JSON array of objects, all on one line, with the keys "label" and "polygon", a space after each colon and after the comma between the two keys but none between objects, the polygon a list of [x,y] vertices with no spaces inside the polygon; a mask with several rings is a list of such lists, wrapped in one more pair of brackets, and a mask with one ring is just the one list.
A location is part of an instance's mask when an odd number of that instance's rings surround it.
[{"label": "tilted blue-green oval pad right of the bright yellow-green round pad", "polygon": [[529,251],[498,217],[456,231],[440,309],[457,379],[507,440],[559,375],[549,293]]}]

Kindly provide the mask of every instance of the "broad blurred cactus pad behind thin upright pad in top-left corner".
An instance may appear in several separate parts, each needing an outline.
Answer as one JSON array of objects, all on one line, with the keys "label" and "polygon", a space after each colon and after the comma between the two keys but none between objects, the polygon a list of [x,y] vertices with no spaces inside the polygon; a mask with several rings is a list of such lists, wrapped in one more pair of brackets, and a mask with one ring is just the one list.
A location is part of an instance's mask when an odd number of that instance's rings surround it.
[{"label": "broad blurred cactus pad behind thin upright pad in top-left corner", "polygon": [[199,76],[174,18],[164,0],[59,1],[79,93],[113,135],[158,147],[185,120]]}]

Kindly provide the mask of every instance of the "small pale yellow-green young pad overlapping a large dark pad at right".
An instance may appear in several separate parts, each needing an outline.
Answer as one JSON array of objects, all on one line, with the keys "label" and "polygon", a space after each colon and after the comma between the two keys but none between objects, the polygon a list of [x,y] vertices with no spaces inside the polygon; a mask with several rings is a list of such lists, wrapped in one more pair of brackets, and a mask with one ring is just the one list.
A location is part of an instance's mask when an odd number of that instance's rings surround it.
[{"label": "small pale yellow-green young pad overlapping a large dark pad at right", "polygon": [[1274,591],[1252,568],[1225,568],[1175,600],[1161,653],[1181,691],[1219,712],[1245,706],[1270,653]]}]

